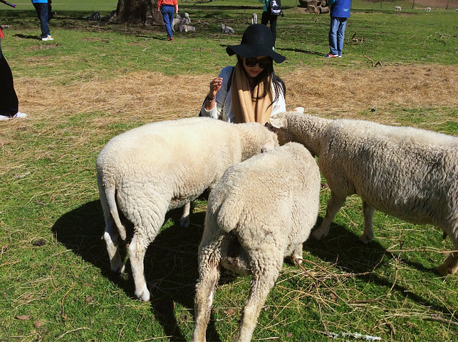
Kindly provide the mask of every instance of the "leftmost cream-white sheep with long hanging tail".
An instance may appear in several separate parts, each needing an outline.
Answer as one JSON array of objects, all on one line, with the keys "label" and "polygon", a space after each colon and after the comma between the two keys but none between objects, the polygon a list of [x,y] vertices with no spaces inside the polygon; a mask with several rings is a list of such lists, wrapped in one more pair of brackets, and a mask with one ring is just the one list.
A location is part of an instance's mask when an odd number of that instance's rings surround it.
[{"label": "leftmost cream-white sheep with long hanging tail", "polygon": [[227,167],[275,145],[276,135],[259,123],[236,125],[211,118],[150,123],[111,139],[97,158],[111,269],[124,269],[118,251],[119,237],[126,239],[122,212],[134,225],[128,252],[135,295],[149,301],[143,257],[167,211],[212,188]]}]

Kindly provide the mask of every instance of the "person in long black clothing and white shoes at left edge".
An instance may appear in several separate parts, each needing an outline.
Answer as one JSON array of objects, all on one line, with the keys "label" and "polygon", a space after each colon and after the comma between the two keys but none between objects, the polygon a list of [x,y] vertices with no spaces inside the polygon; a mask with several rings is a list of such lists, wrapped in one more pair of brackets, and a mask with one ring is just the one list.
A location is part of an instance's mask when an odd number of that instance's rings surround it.
[{"label": "person in long black clothing and white shoes at left edge", "polygon": [[0,28],[0,120],[25,118],[27,115],[18,110],[19,101],[14,90],[13,74],[1,52],[1,38],[4,38],[4,34]]}]

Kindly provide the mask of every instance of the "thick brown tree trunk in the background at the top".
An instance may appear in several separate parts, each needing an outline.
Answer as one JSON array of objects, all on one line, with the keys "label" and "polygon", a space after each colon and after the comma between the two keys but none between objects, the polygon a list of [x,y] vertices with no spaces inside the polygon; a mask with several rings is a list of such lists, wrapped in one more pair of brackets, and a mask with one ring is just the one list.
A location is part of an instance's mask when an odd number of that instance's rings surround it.
[{"label": "thick brown tree trunk in the background at the top", "polygon": [[110,21],[117,23],[164,25],[157,11],[157,0],[118,0],[116,15]]}]

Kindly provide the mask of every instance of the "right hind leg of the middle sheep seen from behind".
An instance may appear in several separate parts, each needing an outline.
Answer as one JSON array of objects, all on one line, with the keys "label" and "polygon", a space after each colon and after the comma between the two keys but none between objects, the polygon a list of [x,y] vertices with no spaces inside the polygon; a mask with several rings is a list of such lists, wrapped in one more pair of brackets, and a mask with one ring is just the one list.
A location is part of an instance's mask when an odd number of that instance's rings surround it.
[{"label": "right hind leg of the middle sheep seen from behind", "polygon": [[[282,261],[283,260],[280,262],[280,267]],[[278,266],[269,264],[266,268],[263,268],[264,271],[269,272],[268,274],[260,274],[259,271],[254,272],[253,279],[251,280],[250,294],[246,301],[244,312],[241,315],[239,331],[234,341],[251,341],[254,328],[256,328],[256,322],[258,321],[259,312],[266,302],[269,291],[274,286],[279,276],[278,269]]]}]

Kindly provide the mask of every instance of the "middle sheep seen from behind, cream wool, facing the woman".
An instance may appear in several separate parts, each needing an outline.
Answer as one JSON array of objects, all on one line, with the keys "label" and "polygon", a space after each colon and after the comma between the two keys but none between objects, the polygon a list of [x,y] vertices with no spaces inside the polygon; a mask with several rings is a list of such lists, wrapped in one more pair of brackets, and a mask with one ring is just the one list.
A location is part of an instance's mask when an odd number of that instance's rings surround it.
[{"label": "middle sheep seen from behind, cream wool, facing the woman", "polygon": [[283,258],[302,258],[318,217],[320,181],[315,159],[295,142],[224,172],[207,202],[192,341],[205,341],[220,266],[253,276],[235,338],[251,341]]}]

